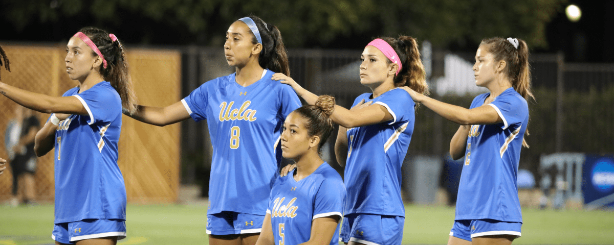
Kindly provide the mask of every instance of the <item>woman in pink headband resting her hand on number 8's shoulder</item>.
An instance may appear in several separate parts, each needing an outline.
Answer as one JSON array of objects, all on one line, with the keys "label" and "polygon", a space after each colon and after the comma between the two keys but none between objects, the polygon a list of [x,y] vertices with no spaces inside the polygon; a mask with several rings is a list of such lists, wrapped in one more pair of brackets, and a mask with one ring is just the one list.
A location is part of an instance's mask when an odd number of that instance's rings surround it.
[{"label": "woman in pink headband resting her hand on number 8's shoulder", "polygon": [[[345,165],[341,239],[349,244],[400,244],[405,222],[401,165],[413,133],[415,104],[397,88],[410,86],[426,94],[426,72],[418,43],[408,36],[375,39],[360,58],[360,83],[373,92],[357,97],[352,110],[336,105],[330,115],[340,125],[335,153]],[[316,102],[317,96],[292,78],[275,74],[273,79],[290,84],[309,104]]]}]

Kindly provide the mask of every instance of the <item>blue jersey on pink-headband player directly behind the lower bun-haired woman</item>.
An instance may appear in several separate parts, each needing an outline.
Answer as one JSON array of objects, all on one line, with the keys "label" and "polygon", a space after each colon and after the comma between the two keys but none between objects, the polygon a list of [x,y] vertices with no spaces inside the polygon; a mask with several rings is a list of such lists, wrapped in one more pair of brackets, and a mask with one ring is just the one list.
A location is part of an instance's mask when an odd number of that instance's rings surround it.
[{"label": "blue jersey on pink-headband player directly behind the lower bun-haired woman", "polygon": [[[401,198],[401,165],[414,131],[414,101],[403,89],[392,89],[371,99],[391,113],[388,122],[348,129],[348,159],[345,184],[348,192],[345,213],[405,216]],[[352,106],[354,106],[352,105]]]}]

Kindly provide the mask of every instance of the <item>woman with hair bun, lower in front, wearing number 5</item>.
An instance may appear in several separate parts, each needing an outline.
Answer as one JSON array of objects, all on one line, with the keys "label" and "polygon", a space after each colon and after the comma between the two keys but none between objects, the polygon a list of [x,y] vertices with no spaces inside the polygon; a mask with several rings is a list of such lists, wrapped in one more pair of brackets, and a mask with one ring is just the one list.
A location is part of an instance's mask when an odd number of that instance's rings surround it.
[{"label": "woman with hair bun, lower in front, wearing number 5", "polygon": [[319,155],[334,129],[329,117],[334,109],[335,98],[320,96],[316,105],[298,108],[286,118],[282,156],[294,160],[296,168],[275,181],[256,244],[339,244],[345,187]]}]

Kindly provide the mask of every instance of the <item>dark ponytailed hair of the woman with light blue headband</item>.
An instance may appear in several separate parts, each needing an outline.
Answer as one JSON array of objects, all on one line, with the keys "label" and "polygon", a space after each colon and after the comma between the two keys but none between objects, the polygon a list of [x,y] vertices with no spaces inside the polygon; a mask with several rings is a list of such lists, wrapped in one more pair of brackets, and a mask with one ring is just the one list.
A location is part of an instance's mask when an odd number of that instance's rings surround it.
[{"label": "dark ponytailed hair of the woman with light blue headband", "polygon": [[[265,69],[290,77],[288,54],[281,39],[281,32],[279,32],[277,26],[267,24],[261,18],[254,15],[249,15],[249,18],[254,20],[262,38],[262,51],[260,52],[260,58],[258,58],[258,64]],[[252,43],[258,43],[255,36],[252,39]]]}]

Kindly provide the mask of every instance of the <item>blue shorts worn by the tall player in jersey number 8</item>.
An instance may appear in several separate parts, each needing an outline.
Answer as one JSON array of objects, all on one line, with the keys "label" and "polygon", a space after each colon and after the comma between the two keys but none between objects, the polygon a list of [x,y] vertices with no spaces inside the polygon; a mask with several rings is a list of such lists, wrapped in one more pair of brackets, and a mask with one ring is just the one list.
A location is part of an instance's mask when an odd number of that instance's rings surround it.
[{"label": "blue shorts worn by the tall player in jersey number 8", "polygon": [[265,216],[244,214],[232,211],[222,211],[217,214],[207,214],[207,234],[233,235],[260,233]]}]

